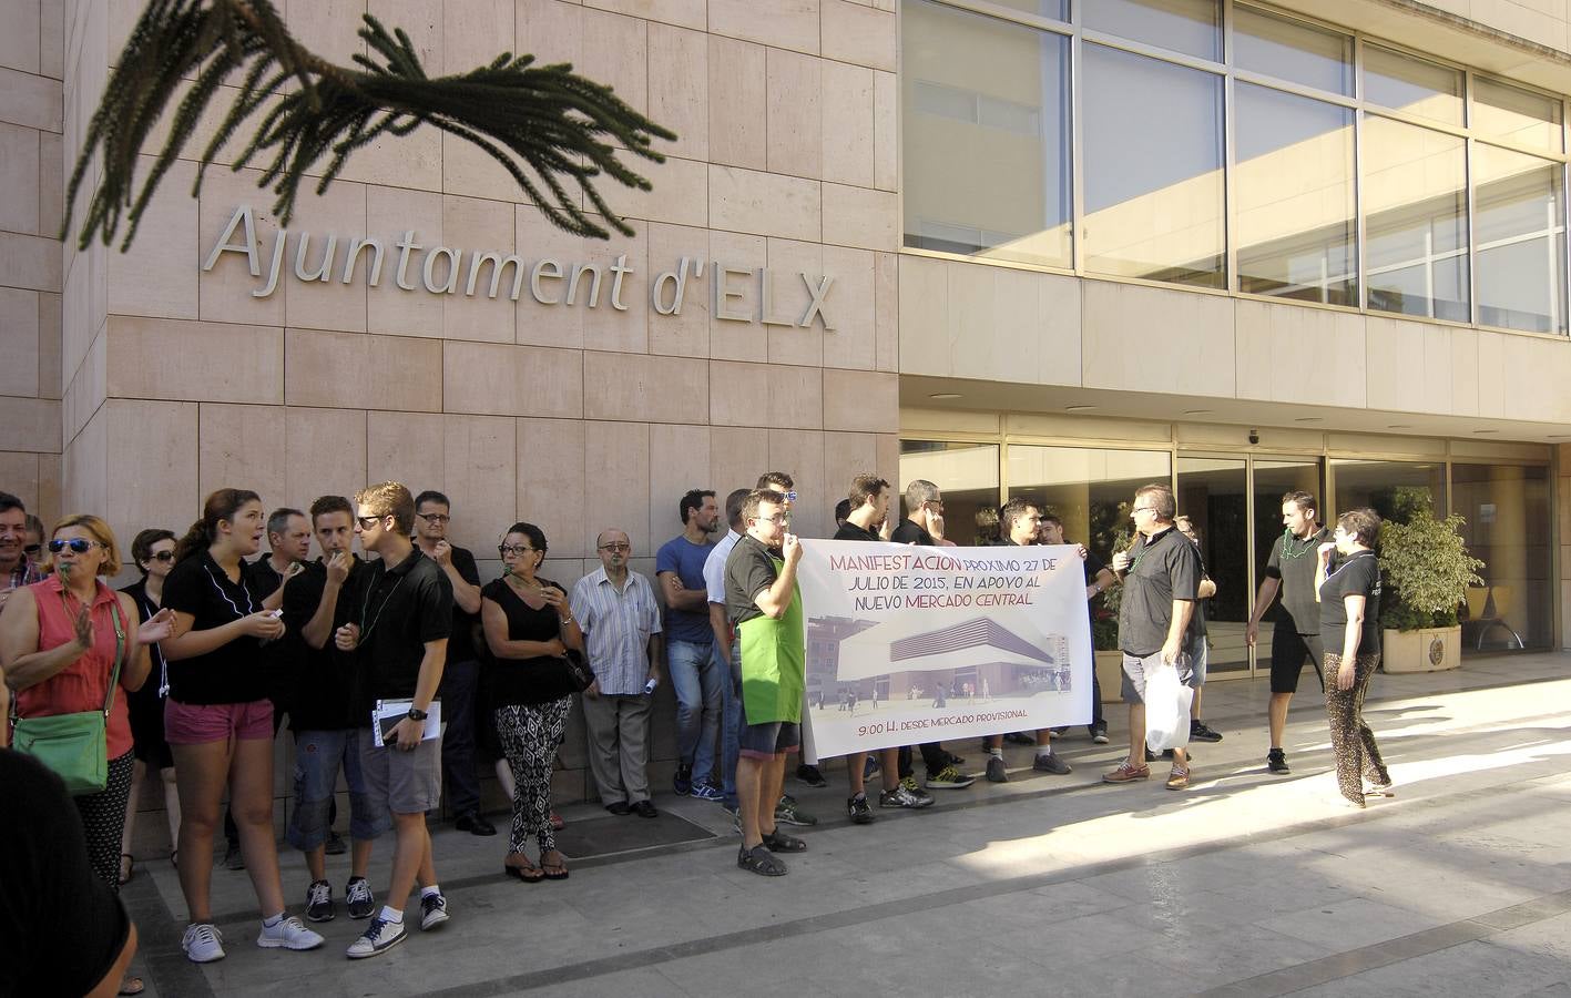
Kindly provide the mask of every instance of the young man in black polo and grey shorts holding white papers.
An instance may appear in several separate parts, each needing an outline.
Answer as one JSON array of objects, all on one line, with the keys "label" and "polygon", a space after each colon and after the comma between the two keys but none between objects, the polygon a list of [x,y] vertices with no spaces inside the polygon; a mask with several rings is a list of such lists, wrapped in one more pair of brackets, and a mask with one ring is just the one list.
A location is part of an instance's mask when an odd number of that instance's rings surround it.
[{"label": "young man in black polo and grey shorts holding white papers", "polygon": [[[426,811],[441,800],[441,737],[423,739],[430,701],[441,685],[452,630],[452,586],[435,561],[410,541],[415,497],[399,482],[382,482],[355,497],[360,550],[377,555],[368,566],[360,607],[333,640],[353,651],[355,723],[361,725],[360,767],[375,811],[393,814],[393,877],[386,904],[349,946],[353,959],[386,952],[405,938],[404,902],[419,883],[421,929],[448,921],[448,899],[437,885]],[[408,714],[383,736],[372,737],[377,701],[408,701]]]}]

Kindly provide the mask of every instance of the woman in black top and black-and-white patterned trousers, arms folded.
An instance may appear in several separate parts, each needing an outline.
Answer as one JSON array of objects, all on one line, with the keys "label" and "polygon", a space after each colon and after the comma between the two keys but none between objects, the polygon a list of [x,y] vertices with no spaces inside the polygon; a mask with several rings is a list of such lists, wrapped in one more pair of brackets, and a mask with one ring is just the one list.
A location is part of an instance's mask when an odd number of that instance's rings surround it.
[{"label": "woman in black top and black-and-white patterned trousers, arms folded", "polygon": [[[515,783],[512,835],[503,869],[525,883],[566,880],[567,863],[556,849],[551,827],[551,765],[567,729],[572,696],[536,703],[531,668],[558,659],[569,648],[584,648],[567,593],[536,572],[545,561],[545,533],[534,523],[514,523],[498,545],[506,566],[501,578],[481,591],[481,624],[490,649],[489,688],[496,734]],[[525,849],[540,846],[536,866]]]}]

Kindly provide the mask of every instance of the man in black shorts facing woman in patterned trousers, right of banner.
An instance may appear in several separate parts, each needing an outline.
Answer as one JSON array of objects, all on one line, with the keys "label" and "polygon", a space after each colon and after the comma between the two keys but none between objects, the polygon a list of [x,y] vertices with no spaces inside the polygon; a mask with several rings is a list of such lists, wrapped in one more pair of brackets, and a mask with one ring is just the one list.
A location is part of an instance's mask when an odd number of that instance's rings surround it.
[{"label": "man in black shorts facing woman in patterned trousers, right of banner", "polygon": [[1287,773],[1287,753],[1282,751],[1282,734],[1287,729],[1287,706],[1298,692],[1298,677],[1304,671],[1304,659],[1315,666],[1320,688],[1326,679],[1320,663],[1326,649],[1320,641],[1320,604],[1315,602],[1315,552],[1331,542],[1331,531],[1315,523],[1315,497],[1309,492],[1288,492],[1282,497],[1282,536],[1271,545],[1266,561],[1266,577],[1255,593],[1255,608],[1249,613],[1244,632],[1249,646],[1260,635],[1260,618],[1271,608],[1271,600],[1282,591],[1282,613],[1271,632],[1271,753],[1266,769]]}]

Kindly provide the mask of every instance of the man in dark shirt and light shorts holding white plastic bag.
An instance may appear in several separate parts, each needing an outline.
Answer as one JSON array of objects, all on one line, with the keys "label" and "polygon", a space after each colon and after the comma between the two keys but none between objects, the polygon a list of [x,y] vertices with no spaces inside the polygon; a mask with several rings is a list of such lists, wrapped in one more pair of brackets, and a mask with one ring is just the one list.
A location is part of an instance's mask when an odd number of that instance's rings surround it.
[{"label": "man in dark shirt and light shorts holding white plastic bag", "polygon": [[[1152,775],[1145,765],[1145,677],[1161,666],[1178,670],[1178,679],[1194,682],[1185,640],[1200,589],[1200,553],[1178,533],[1178,503],[1163,484],[1142,486],[1134,493],[1137,539],[1131,552],[1112,556],[1112,571],[1123,580],[1119,605],[1119,648],[1123,651],[1123,701],[1130,704],[1130,756],[1103,783],[1133,783]],[[1174,750],[1169,791],[1189,786],[1189,754]]]}]

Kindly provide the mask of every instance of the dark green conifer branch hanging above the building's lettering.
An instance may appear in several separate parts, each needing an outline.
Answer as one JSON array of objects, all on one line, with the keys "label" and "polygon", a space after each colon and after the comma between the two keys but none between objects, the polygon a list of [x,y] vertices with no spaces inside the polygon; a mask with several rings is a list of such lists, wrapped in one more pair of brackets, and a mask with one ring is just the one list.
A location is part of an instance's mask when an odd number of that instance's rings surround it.
[{"label": "dark green conifer branch hanging above the building's lettering", "polygon": [[[192,196],[201,193],[207,167],[244,127],[250,138],[231,170],[258,163],[258,187],[272,189],[273,212],[287,225],[308,171],[320,171],[316,193],[322,193],[357,151],[430,126],[500,162],[553,225],[577,236],[610,237],[580,207],[581,195],[606,225],[633,234],[595,181],[610,176],[650,190],[619,154],[661,163],[665,156],[650,143],[676,134],[566,63],[536,66],[533,55],[504,53],[468,72],[432,79],[401,28],[390,33],[366,14],[358,35],[369,55],[355,55],[349,68],[300,46],[269,0],[151,0],[88,124],[66,189],[60,237],[71,234],[77,193],[101,157],[102,176],[83,212],[79,245],[86,248],[94,233],[112,244],[124,226],[121,250],[129,248],[159,182],[236,75],[236,96],[196,156]],[[187,77],[192,83],[171,108]],[[165,116],[168,138],[138,182],[143,149]]]}]

